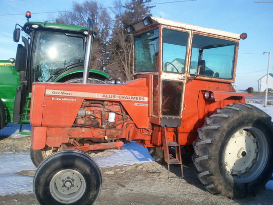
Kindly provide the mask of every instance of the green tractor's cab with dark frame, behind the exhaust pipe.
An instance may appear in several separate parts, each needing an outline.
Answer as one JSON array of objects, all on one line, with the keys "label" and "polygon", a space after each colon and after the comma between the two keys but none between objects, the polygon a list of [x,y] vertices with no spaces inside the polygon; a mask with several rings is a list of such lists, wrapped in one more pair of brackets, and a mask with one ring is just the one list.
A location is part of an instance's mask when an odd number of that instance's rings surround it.
[{"label": "green tractor's cab with dark frame, behind the exhaust pipe", "polygon": [[[17,24],[14,31],[15,42],[19,42],[20,30],[29,36],[28,39],[22,36],[24,46],[18,45],[15,69],[26,72],[30,85],[35,81],[56,82],[65,71],[83,67],[87,28],[29,22],[30,12],[26,17],[27,23]],[[31,91],[31,86],[28,89]]]}]

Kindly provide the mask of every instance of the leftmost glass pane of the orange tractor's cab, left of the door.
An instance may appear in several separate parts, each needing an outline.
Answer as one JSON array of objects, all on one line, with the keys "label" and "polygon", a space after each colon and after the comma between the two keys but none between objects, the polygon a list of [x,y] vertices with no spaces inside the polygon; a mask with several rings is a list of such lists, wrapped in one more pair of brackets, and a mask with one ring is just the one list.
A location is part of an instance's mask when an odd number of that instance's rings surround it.
[{"label": "leftmost glass pane of the orange tractor's cab, left of the door", "polygon": [[156,71],[158,29],[134,37],[134,72]]}]

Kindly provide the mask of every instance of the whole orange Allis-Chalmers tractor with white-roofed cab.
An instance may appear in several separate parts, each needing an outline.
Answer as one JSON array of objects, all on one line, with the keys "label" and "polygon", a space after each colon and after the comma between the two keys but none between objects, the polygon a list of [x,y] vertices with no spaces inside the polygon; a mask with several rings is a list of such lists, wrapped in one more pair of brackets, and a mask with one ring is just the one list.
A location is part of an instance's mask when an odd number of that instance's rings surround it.
[{"label": "whole orange Allis-Chalmers tractor with white-roofed cab", "polygon": [[233,198],[263,187],[273,170],[271,118],[245,104],[250,94],[237,93],[231,84],[239,39],[246,34],[152,16],[127,30],[134,39],[132,81],[86,84],[84,75],[83,84],[33,84],[31,158],[40,164],[34,177],[38,201],[92,204],[101,174],[84,152],[131,140],[168,168],[182,168],[180,148],[193,147],[197,176],[213,194]]}]

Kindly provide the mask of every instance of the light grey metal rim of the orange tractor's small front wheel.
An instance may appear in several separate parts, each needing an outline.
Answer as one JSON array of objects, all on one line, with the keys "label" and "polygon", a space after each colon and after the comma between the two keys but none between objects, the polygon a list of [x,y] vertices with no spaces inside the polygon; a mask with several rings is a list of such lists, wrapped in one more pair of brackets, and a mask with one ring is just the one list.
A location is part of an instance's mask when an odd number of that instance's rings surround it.
[{"label": "light grey metal rim of the orange tractor's small front wheel", "polygon": [[56,173],[49,184],[52,197],[61,203],[73,203],[85,192],[86,182],[76,170],[65,169]]}]

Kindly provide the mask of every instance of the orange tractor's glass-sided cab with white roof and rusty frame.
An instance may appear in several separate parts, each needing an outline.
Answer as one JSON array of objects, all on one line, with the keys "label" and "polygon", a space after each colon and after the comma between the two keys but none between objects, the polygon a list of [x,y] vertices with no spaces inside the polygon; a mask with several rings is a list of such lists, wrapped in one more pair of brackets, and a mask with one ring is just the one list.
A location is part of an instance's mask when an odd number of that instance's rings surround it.
[{"label": "orange tractor's glass-sided cab with white roof and rusty frame", "polygon": [[127,31],[134,39],[135,78],[152,76],[151,122],[167,127],[181,125],[188,82],[234,82],[238,41],[246,38],[152,16]]}]

